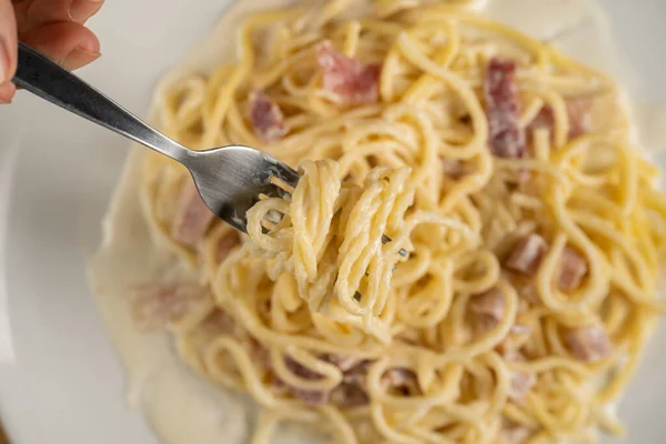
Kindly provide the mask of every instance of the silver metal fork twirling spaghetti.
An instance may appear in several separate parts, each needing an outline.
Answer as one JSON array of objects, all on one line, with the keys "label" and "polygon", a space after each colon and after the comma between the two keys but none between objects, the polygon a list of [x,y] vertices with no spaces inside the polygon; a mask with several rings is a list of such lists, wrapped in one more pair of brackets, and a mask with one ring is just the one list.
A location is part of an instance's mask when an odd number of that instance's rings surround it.
[{"label": "silver metal fork twirling spaghetti", "polygon": [[[186,149],[24,43],[19,43],[18,68],[12,81],[67,111],[180,162],[190,170],[206,206],[242,232],[246,232],[248,210],[261,195],[284,198],[284,190],[272,179],[294,188],[299,183],[296,171],[249,147]],[[387,243],[391,239],[384,235],[382,241]],[[401,249],[400,254],[406,256],[407,252]]]}]

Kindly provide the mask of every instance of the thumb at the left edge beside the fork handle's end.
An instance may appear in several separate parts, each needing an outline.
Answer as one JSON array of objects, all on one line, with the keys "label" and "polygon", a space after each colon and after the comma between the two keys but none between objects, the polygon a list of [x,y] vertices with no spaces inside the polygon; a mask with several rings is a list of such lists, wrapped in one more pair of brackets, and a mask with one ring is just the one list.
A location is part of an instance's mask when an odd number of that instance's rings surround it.
[{"label": "thumb at the left edge beside the fork handle's end", "polygon": [[17,70],[17,22],[11,0],[0,0],[0,103],[11,99]]}]

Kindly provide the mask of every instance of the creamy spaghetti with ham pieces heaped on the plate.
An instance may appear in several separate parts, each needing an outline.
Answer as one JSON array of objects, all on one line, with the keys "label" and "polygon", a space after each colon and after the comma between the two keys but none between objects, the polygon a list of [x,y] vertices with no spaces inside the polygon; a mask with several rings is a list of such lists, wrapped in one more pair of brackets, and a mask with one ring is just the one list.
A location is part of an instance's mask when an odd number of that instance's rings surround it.
[{"label": "creamy spaghetti with ham pieces heaped on the plate", "polygon": [[344,443],[623,433],[608,406],[665,310],[657,171],[610,79],[468,3],[260,13],[238,62],[160,91],[183,144],[303,173],[240,239],[186,171],[144,167],[151,228],[201,286],[138,289],[138,316],[262,405],[255,443],[282,422]]}]

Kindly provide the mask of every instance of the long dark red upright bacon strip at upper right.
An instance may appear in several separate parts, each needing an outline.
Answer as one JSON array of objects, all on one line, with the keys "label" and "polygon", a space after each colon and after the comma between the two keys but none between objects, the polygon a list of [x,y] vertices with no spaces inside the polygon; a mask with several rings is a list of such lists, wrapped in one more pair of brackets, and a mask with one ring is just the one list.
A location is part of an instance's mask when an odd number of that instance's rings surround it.
[{"label": "long dark red upright bacon strip at upper right", "polygon": [[483,83],[488,119],[488,144],[500,158],[521,159],[527,154],[525,130],[519,122],[516,63],[491,59]]}]

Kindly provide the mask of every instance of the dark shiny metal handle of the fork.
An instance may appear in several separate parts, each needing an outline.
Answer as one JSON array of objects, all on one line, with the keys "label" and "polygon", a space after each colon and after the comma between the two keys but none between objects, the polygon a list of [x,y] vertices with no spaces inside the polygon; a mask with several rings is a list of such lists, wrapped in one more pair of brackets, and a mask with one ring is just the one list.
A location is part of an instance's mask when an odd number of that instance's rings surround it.
[{"label": "dark shiny metal handle of the fork", "polygon": [[192,152],[24,43],[13,83],[74,114],[142,143],[176,161]]}]

